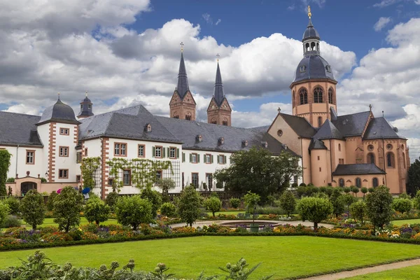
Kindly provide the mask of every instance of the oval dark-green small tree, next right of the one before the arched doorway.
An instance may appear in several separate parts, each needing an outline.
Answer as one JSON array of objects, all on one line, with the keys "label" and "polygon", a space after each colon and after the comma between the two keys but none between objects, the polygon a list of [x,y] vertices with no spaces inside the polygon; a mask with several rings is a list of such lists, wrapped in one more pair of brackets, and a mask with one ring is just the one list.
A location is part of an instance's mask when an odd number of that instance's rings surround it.
[{"label": "oval dark-green small tree, next right of the one before the arched doorway", "polygon": [[80,224],[80,211],[82,211],[83,195],[80,195],[72,186],[62,188],[54,199],[54,223],[59,230],[69,232],[71,228]]}]

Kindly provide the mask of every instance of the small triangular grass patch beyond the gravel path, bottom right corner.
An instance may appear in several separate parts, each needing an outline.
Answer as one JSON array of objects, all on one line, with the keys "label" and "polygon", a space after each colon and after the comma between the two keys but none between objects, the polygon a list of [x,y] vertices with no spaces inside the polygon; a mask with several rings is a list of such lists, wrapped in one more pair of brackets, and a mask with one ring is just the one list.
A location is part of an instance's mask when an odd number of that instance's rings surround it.
[{"label": "small triangular grass patch beyond the gravel path, bottom right corner", "polygon": [[365,275],[359,275],[347,280],[353,279],[377,279],[377,280],[414,280],[420,279],[420,265],[413,265],[412,267],[403,267],[398,269],[391,269],[384,272],[374,272]]}]

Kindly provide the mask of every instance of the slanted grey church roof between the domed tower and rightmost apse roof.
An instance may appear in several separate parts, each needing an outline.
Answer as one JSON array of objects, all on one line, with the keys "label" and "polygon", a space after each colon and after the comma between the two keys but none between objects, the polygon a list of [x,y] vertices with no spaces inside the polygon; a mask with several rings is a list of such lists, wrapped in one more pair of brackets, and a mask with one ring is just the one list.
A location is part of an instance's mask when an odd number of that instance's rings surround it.
[{"label": "slanted grey church roof between the domed tower and rightmost apse roof", "polygon": [[337,127],[343,137],[361,136],[369,116],[370,111],[338,116],[337,120],[332,120],[332,124]]}]

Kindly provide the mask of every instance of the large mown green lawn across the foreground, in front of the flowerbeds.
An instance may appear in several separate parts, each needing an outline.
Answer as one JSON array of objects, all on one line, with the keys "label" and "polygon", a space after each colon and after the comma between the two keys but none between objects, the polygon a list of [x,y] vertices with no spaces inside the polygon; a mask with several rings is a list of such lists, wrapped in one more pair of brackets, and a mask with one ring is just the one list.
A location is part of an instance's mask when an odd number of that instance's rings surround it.
[{"label": "large mown green lawn across the foreground, in front of the flowerbeds", "polygon": [[[130,258],[136,268],[153,270],[165,262],[176,276],[193,278],[204,271],[220,273],[218,267],[243,257],[256,265],[255,276],[275,273],[274,279],[330,272],[379,262],[420,257],[420,246],[322,237],[186,237],[124,243],[45,248],[49,258],[59,264],[99,267]],[[34,250],[0,252],[0,268],[18,265]],[[357,256],[355,258],[354,256]],[[253,277],[254,278],[254,277]]]}]

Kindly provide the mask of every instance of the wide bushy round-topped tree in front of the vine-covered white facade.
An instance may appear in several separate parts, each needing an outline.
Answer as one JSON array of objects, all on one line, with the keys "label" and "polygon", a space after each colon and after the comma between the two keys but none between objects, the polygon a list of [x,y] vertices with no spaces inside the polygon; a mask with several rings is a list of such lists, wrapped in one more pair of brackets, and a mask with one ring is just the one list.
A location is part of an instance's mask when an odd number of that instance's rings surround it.
[{"label": "wide bushy round-topped tree in front of the vine-covered white facade", "polygon": [[140,195],[121,197],[117,202],[116,215],[118,223],[131,225],[133,230],[138,230],[141,223],[153,221],[152,204]]}]

